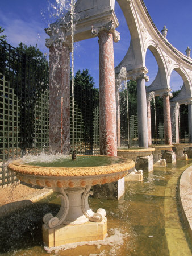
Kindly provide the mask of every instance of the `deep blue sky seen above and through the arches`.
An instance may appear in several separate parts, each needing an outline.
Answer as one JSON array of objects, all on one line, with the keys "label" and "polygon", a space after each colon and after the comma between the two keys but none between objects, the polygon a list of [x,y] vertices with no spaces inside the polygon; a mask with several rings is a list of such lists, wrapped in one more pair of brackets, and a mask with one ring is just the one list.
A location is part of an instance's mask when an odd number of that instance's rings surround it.
[{"label": "deep blue sky seen above and through the arches", "polygon": [[[53,14],[56,10],[51,7],[51,3],[56,6],[56,0],[1,0],[0,26],[5,28],[4,34],[7,35],[7,42],[12,46],[18,46],[20,42],[27,46],[35,46],[36,43],[40,50],[48,55],[45,47],[45,38],[48,36],[44,28],[55,20]],[[153,22],[158,30],[166,25],[168,28],[168,41],[179,51],[185,53],[187,46],[192,48],[192,1],[179,0],[144,0],[145,5],[151,15]],[[119,20],[121,40],[114,43],[115,66],[123,59],[130,43],[130,33],[126,20],[122,15],[118,3],[115,3],[115,13]],[[94,77],[95,86],[98,87],[99,81],[99,46],[98,38],[88,39],[78,42],[75,45],[74,70],[89,69],[91,76]],[[192,55],[192,53],[191,53]],[[147,68],[149,70],[149,82],[151,84],[157,73],[157,63],[151,52],[147,51]],[[173,72],[171,76],[171,88],[177,90],[182,86],[182,79]]]}]

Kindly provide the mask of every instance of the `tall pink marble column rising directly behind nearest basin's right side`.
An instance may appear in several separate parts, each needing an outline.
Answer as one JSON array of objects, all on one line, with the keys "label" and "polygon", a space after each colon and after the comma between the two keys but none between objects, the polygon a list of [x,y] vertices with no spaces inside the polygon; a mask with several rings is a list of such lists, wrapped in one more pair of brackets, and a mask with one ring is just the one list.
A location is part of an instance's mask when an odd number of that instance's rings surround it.
[{"label": "tall pink marble column rising directly behind nearest basin's right side", "polygon": [[99,140],[101,155],[117,155],[113,35],[99,33]]}]

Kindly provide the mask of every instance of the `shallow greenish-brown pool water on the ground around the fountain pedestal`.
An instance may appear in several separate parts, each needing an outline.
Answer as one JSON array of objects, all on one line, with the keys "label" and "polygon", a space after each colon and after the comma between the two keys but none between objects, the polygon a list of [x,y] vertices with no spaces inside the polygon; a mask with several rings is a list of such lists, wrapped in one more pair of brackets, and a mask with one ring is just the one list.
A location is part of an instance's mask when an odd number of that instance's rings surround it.
[{"label": "shallow greenish-brown pool water on the ground around the fountain pedestal", "polygon": [[[108,236],[118,230],[115,243],[100,247],[77,246],[65,251],[52,251],[49,255],[191,255],[191,240],[178,199],[180,175],[191,163],[192,160],[168,163],[168,167],[154,167],[149,174],[144,172],[143,182],[126,181],[126,192],[119,201],[89,199],[92,210],[106,210]],[[59,200],[53,194],[0,219],[0,254],[48,255],[41,237],[42,218],[45,213],[58,212]],[[122,243],[119,243],[120,234],[123,234]]]}]

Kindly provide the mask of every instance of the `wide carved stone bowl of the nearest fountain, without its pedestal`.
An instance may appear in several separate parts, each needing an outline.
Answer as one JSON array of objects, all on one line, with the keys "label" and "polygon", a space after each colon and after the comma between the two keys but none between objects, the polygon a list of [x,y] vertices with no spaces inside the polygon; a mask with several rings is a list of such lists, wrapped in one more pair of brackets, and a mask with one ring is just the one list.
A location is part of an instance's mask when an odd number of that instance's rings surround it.
[{"label": "wide carved stone bowl of the nearest fountain, without its pedestal", "polygon": [[[102,157],[110,158],[110,156],[94,156],[98,161]],[[90,167],[42,167],[23,164],[19,159],[9,163],[7,168],[9,171],[16,172],[19,180],[32,185],[74,188],[111,183],[122,179],[135,166],[135,163],[131,159],[120,157],[117,159],[119,162],[115,164]]]}]

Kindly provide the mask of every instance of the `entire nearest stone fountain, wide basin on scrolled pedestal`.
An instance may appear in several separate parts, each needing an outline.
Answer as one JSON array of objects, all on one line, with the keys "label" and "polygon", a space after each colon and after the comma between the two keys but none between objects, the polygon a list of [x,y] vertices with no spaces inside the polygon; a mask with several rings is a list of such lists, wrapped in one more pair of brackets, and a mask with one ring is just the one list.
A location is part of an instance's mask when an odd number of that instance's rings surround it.
[{"label": "entire nearest stone fountain, wide basin on scrolled pedestal", "polygon": [[[72,167],[34,166],[20,160],[7,167],[9,171],[16,172],[19,180],[53,188],[61,198],[57,215],[47,213],[43,217],[43,242],[48,247],[103,240],[107,233],[106,212],[100,208],[94,213],[90,209],[88,197],[93,195],[90,188],[122,179],[135,166],[132,160],[125,158],[98,155],[82,158],[79,165],[73,162]],[[89,163],[93,161],[94,166],[87,167],[87,159]],[[67,163],[59,164],[65,166]]]}]

